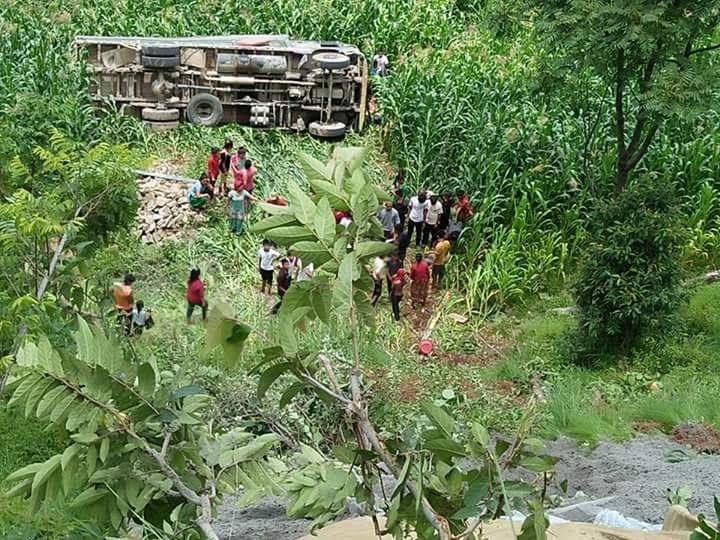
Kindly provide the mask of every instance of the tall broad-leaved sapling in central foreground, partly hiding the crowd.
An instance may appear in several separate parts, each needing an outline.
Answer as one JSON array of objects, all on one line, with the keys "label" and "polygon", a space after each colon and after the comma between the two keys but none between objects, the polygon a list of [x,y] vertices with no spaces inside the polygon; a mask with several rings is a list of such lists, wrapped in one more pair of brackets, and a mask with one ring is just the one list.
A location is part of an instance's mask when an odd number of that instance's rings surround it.
[{"label": "tall broad-leaved sapling in central foreground, partly hiding the crowd", "polygon": [[[253,226],[316,268],[311,280],[293,282],[283,298],[277,343],[265,350],[259,366],[258,394],[291,375],[294,382],[282,392],[282,404],[300,392],[315,392],[343,408],[354,436],[352,443],[334,449],[333,461],[309,448],[295,457],[284,482],[288,513],[311,517],[319,526],[342,514],[352,496],[373,516],[378,534],[402,538],[413,530],[422,540],[460,540],[478,538],[482,522],[508,513],[514,500],[538,498],[538,512],[529,523],[544,531],[544,507],[535,488],[503,480],[507,468],[521,463],[538,473],[554,464],[526,440],[532,413],[513,442],[494,442],[484,427],[461,425],[432,403],[423,406],[423,417],[407,433],[382,438],[373,427],[362,374],[362,351],[373,343],[374,322],[367,266],[393,246],[379,240],[374,210],[384,194],[367,179],[363,158],[358,148],[336,148],[327,164],[303,156],[312,196],[291,187],[289,205],[264,205],[272,215]],[[352,223],[335,225],[332,208],[349,210]],[[304,350],[300,336],[312,324],[346,337],[347,350]],[[462,464],[468,457],[469,467]],[[395,489],[375,500],[381,470],[390,471]],[[382,531],[378,508],[387,517]]]}]

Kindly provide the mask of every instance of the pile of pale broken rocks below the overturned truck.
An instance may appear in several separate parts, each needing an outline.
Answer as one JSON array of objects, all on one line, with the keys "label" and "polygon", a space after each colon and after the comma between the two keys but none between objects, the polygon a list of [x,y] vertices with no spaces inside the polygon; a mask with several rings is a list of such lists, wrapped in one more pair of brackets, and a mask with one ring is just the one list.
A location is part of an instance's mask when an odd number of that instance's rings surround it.
[{"label": "pile of pale broken rocks below the overturned truck", "polygon": [[145,244],[180,238],[186,229],[194,229],[206,220],[203,213],[190,208],[189,185],[184,182],[146,177],[138,178],[137,186],[137,233]]}]

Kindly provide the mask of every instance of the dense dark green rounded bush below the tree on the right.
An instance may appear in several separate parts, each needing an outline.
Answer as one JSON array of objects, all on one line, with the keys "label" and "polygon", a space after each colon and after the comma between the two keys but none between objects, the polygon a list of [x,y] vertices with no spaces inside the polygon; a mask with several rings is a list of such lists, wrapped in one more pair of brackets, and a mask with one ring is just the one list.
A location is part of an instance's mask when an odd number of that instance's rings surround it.
[{"label": "dense dark green rounded bush below the tree on the right", "polygon": [[582,360],[626,353],[668,322],[682,298],[679,217],[673,190],[652,178],[599,205],[574,286]]}]

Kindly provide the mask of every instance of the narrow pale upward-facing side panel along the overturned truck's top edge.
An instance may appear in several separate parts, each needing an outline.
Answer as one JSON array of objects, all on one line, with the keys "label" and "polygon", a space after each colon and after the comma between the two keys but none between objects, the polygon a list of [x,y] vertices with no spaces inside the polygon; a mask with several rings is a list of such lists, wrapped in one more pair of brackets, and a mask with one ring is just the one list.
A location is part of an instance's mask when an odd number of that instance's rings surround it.
[{"label": "narrow pale upward-facing side panel along the overturned truck's top edge", "polygon": [[266,51],[292,51],[310,54],[321,48],[332,48],[346,55],[362,55],[360,49],[337,41],[311,41],[290,39],[283,34],[240,34],[230,36],[196,36],[196,37],[138,37],[138,36],[78,36],[76,45],[120,45],[133,49],[142,48],[143,44],[168,44],[178,47],[210,48],[210,49],[255,49]]}]

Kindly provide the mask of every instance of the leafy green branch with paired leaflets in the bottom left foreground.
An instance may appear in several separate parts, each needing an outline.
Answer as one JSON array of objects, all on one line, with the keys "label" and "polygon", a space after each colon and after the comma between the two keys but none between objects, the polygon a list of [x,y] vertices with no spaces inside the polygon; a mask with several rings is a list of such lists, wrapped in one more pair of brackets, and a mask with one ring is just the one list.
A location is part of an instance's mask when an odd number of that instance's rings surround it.
[{"label": "leafy green branch with paired leaflets in the bottom left foreground", "polygon": [[8,406],[59,426],[69,444],[10,474],[9,497],[29,499],[33,510],[59,499],[79,517],[138,538],[161,530],[216,539],[211,517],[223,495],[241,484],[274,492],[268,478],[282,467],[267,454],[275,435],[213,433],[202,388],[130,357],[83,319],[74,338],[72,352],[41,337],[17,354]]}]

